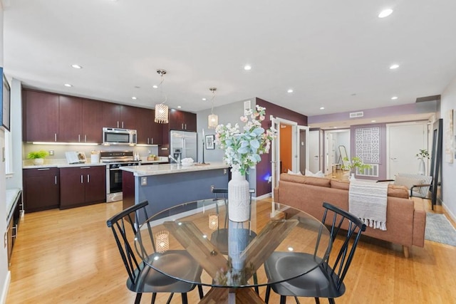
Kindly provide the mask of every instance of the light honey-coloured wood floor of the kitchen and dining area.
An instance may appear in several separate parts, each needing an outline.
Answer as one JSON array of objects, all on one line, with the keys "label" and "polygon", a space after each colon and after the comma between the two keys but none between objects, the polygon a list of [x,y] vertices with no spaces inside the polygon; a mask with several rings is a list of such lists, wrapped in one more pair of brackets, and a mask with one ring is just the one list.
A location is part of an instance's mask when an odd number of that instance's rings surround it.
[{"label": "light honey-coloured wood floor of the kitchen and dining area", "polygon": [[[125,287],[127,274],[105,224],[121,207],[118,201],[26,214],[6,303],[133,303],[135,294]],[[364,237],[345,283],[346,294],[337,303],[456,303],[456,247],[425,241],[424,248],[413,246],[407,259],[401,246]],[[260,288],[262,298],[264,292]],[[189,303],[198,299],[195,289]],[[172,303],[180,301],[175,295]],[[157,297],[157,303],[165,302],[165,295]],[[143,295],[142,303],[150,303],[150,295]],[[279,303],[279,297],[271,293],[270,303]]]}]

